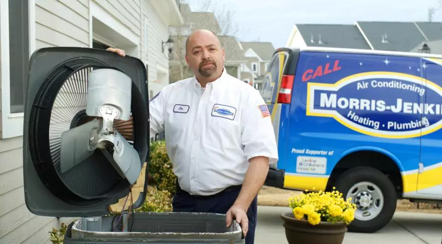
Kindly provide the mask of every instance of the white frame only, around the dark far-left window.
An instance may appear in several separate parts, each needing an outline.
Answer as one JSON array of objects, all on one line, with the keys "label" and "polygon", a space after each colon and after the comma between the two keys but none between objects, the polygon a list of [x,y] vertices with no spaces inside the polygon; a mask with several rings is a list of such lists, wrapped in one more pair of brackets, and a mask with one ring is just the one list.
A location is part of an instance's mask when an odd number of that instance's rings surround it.
[{"label": "white frame only, around the dark far-left window", "polygon": [[[35,0],[28,2],[29,58],[35,51]],[[9,1],[0,5],[0,58],[1,58],[1,131],[0,139],[23,136],[25,113],[11,113],[10,61],[9,61]],[[26,82],[26,81],[24,81]],[[24,91],[25,92],[25,91]],[[24,94],[25,95],[25,94]]]}]

